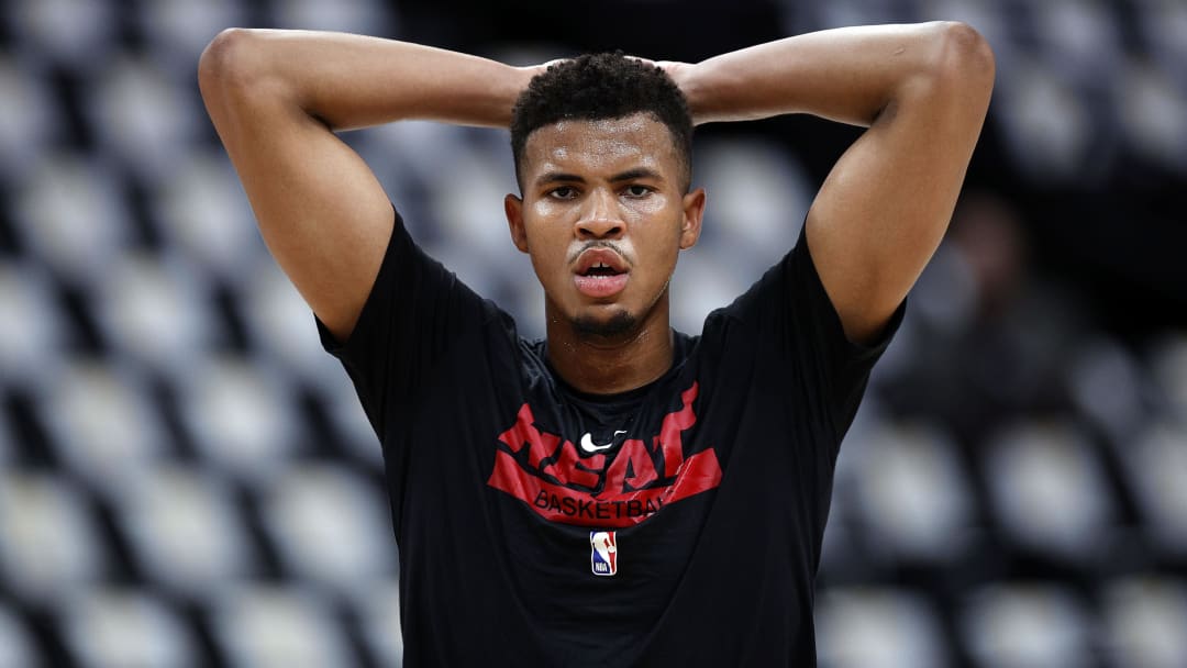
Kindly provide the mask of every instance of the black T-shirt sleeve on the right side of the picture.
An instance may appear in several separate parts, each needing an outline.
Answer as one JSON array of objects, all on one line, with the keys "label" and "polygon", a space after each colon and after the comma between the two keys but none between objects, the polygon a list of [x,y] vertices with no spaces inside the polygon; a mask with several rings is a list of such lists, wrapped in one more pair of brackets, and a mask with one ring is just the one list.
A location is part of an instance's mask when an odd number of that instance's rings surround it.
[{"label": "black T-shirt sleeve on the right side of the picture", "polygon": [[838,445],[853,421],[870,370],[897,331],[904,310],[906,301],[871,344],[849,341],[802,229],[795,247],[730,306],[731,314],[756,337],[756,350],[770,351],[763,363],[800,383],[810,396],[823,399],[815,408],[830,424]]}]

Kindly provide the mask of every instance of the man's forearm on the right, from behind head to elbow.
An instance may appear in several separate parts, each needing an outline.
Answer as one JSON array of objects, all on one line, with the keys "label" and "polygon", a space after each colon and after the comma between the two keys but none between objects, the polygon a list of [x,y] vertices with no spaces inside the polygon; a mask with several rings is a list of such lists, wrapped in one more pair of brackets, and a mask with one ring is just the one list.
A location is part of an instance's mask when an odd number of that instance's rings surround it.
[{"label": "man's forearm on the right, from behind head to elbow", "polygon": [[698,123],[808,113],[859,126],[871,125],[908,91],[961,77],[985,88],[985,75],[991,84],[992,56],[984,42],[952,23],[807,33],[675,72]]}]

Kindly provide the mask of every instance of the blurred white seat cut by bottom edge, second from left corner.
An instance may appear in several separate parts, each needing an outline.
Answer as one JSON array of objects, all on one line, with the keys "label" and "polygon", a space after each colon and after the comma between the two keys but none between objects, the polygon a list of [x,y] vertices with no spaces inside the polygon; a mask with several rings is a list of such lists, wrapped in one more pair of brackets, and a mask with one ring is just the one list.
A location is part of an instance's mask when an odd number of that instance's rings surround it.
[{"label": "blurred white seat cut by bottom edge, second from left corner", "polygon": [[83,668],[191,668],[198,666],[189,628],[150,593],[96,587],[70,597],[63,636]]}]

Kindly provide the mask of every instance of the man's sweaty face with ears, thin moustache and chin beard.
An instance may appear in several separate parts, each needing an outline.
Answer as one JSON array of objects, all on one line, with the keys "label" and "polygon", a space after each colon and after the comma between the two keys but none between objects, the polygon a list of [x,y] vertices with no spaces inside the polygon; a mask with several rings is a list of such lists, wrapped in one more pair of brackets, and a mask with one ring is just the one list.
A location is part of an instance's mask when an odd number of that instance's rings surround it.
[{"label": "man's sweaty face with ears, thin moustache and chin beard", "polygon": [[550,320],[614,337],[667,314],[668,280],[697,242],[705,196],[684,193],[665,125],[635,114],[545,126],[528,135],[520,172],[523,197],[507,196],[507,220]]}]

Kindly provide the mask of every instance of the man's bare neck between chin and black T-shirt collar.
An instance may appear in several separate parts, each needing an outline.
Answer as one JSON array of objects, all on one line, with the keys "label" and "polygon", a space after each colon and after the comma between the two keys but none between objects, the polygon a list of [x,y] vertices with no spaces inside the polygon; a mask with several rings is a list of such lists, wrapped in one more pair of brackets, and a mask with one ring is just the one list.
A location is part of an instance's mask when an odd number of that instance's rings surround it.
[{"label": "man's bare neck between chin and black T-shirt collar", "polygon": [[571,387],[616,394],[642,387],[672,368],[667,313],[652,313],[621,337],[583,335],[572,323],[547,318],[548,362]]}]

